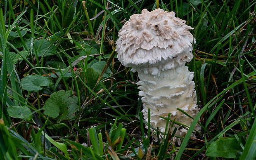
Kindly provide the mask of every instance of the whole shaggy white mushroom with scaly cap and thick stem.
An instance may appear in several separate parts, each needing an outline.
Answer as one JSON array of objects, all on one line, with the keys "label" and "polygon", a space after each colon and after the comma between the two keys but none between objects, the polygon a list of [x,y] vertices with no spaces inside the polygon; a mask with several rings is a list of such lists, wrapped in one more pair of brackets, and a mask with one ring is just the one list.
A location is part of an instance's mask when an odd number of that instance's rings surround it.
[{"label": "whole shaggy white mushroom with scaly cap and thick stem", "polygon": [[[144,119],[148,122],[150,108],[150,125],[165,132],[164,118],[171,113],[171,119],[190,126],[189,118],[176,108],[180,108],[191,117],[198,113],[194,73],[188,71],[186,62],[193,59],[191,53],[195,43],[192,29],[185,21],[175,17],[174,12],[155,9],[152,12],[142,10],[142,14],[134,14],[119,31],[116,41],[116,52],[119,61],[131,71],[138,72],[137,82],[142,96]],[[171,123],[168,124],[171,127]],[[178,127],[175,135],[184,137],[187,129]],[[180,129],[181,128],[181,129]],[[196,130],[201,128],[197,126]],[[194,136],[194,135],[193,135]],[[181,139],[174,138],[178,144]]]}]

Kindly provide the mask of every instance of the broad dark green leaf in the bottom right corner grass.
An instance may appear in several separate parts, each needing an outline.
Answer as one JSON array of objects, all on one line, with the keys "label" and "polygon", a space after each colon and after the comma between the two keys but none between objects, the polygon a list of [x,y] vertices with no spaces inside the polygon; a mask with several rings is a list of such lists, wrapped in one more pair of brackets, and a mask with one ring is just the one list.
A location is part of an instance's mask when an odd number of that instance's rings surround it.
[{"label": "broad dark green leaf in the bottom right corner grass", "polygon": [[208,157],[236,158],[236,153],[242,151],[236,138],[220,137],[209,145],[206,150]]}]

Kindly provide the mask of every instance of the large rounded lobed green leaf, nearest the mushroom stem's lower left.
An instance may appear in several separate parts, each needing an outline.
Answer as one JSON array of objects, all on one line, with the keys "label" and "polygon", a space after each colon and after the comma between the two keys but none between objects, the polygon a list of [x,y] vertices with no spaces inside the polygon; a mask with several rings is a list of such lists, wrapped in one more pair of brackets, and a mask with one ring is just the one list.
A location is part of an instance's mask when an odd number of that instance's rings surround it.
[{"label": "large rounded lobed green leaf, nearest the mushroom stem's lower left", "polygon": [[57,123],[61,120],[74,118],[74,113],[78,110],[78,97],[70,96],[70,91],[60,90],[50,95],[43,106],[44,114],[52,118],[57,118]]}]

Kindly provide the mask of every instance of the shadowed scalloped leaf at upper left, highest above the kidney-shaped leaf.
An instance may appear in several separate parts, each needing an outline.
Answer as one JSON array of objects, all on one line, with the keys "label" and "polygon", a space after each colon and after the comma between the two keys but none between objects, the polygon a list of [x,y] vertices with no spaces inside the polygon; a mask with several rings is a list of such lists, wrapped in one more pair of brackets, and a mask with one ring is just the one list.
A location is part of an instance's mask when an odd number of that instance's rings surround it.
[{"label": "shadowed scalloped leaf at upper left, highest above the kidney-shaped leaf", "polygon": [[[51,56],[57,52],[57,47],[52,44],[53,41],[50,40],[35,40],[33,45],[33,54],[36,54],[37,51],[38,56]],[[29,49],[31,47],[31,42],[27,41],[26,46]]]}]

